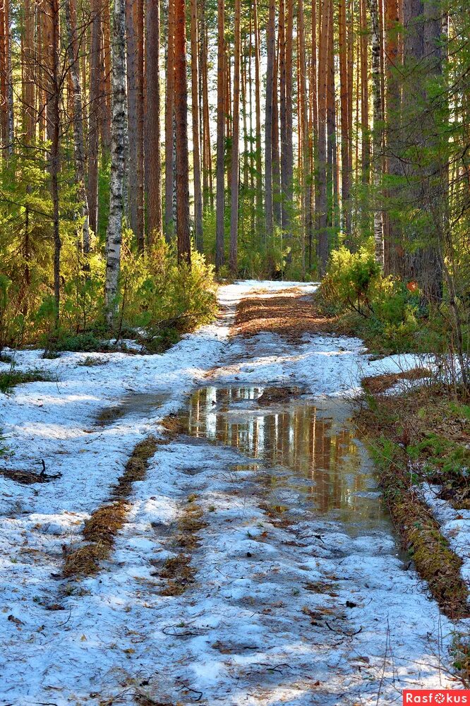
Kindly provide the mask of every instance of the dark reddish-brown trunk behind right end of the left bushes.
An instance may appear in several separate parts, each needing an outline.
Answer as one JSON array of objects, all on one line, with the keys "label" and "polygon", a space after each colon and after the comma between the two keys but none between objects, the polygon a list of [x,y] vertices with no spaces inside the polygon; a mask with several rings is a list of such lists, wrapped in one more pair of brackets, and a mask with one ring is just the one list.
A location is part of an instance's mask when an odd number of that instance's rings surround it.
[{"label": "dark reddish-brown trunk behind right end of the left bushes", "polygon": [[185,0],[175,0],[174,67],[174,112],[176,119],[176,235],[178,239],[178,261],[180,263],[184,261],[191,266]]}]

